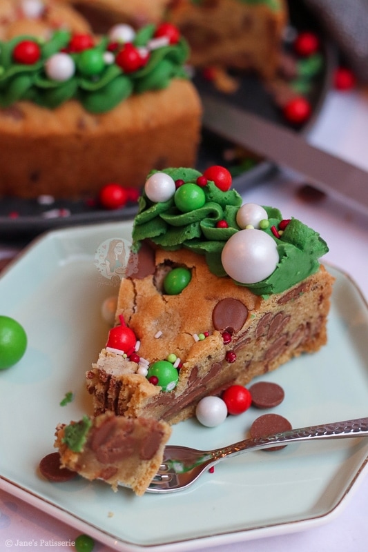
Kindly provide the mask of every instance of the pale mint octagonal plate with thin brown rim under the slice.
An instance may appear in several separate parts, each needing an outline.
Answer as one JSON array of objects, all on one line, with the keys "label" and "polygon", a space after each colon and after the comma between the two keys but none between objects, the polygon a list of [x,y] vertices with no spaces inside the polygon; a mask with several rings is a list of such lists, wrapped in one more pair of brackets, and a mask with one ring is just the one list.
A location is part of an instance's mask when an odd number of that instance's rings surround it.
[{"label": "pale mint octagonal plate with thin brown rim under the slice", "polygon": [[[327,522],[345,504],[367,465],[368,441],[293,444],[242,455],[215,467],[187,491],[136,497],[103,482],[50,483],[39,475],[59,422],[91,413],[84,373],[106,343],[104,299],[119,278],[104,273],[113,238],[130,244],[131,223],[57,230],[37,239],[0,279],[0,314],[26,328],[21,361],[0,372],[0,488],[88,532],[119,551],[188,551],[304,530]],[[285,399],[272,411],[293,427],[368,415],[368,308],[354,282],[336,276],[329,343],[262,380]],[[72,391],[74,400],[60,406]],[[6,413],[6,415],[5,415]],[[188,420],[171,442],[214,448],[246,437],[264,411],[250,408],[217,428]]]}]

